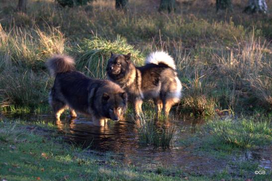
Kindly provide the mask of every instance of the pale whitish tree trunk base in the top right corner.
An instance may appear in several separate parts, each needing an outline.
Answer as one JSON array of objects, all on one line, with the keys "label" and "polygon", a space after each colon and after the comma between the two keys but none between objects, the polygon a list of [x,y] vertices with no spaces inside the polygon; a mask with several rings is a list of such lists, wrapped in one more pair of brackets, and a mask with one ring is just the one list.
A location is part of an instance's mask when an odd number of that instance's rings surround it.
[{"label": "pale whitish tree trunk base in the top right corner", "polygon": [[244,12],[261,12],[261,13],[267,13],[268,6],[266,3],[266,0],[249,0],[248,6],[244,9]]}]

